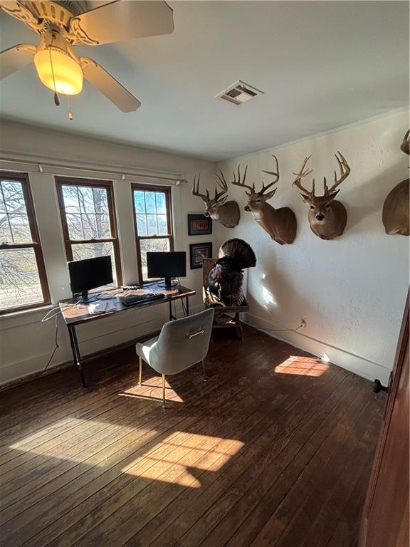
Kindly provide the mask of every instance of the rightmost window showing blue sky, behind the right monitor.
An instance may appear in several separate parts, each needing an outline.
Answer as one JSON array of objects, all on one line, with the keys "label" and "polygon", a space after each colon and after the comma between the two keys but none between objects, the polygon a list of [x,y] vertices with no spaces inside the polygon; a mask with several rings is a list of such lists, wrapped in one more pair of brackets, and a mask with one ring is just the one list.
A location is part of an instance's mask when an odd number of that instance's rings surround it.
[{"label": "rightmost window showing blue sky, behind the right monitor", "polygon": [[173,251],[171,189],[132,184],[140,283],[148,281],[147,251]]}]

